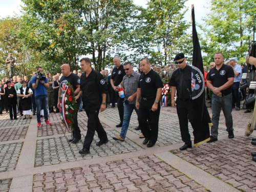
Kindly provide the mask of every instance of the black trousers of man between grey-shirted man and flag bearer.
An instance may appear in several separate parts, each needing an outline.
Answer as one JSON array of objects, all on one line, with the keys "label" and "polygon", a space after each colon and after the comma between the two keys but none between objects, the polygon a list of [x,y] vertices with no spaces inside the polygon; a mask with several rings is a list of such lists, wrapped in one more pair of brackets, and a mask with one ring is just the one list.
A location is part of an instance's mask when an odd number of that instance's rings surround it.
[{"label": "black trousers of man between grey-shirted man and flag bearer", "polygon": [[[155,99],[152,100],[140,100],[140,107],[138,112],[138,120],[139,126],[142,134],[145,138],[149,138],[152,143],[157,142],[158,138],[158,123],[159,123],[159,115],[160,115],[160,102],[158,103],[157,110],[155,112],[150,111],[155,102]],[[151,130],[148,127],[147,120],[151,125]]]}]

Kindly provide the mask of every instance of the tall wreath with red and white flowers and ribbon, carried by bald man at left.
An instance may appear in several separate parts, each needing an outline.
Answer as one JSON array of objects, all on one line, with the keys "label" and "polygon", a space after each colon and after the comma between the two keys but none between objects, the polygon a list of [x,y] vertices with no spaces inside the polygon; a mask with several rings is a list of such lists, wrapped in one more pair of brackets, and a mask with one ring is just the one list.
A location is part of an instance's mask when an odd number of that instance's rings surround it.
[{"label": "tall wreath with red and white flowers and ribbon, carried by bald man at left", "polygon": [[63,83],[61,89],[61,97],[59,97],[59,100],[59,112],[61,113],[62,123],[64,126],[66,126],[67,130],[74,130],[73,122],[77,113],[77,105],[74,90],[69,82],[66,84]]}]

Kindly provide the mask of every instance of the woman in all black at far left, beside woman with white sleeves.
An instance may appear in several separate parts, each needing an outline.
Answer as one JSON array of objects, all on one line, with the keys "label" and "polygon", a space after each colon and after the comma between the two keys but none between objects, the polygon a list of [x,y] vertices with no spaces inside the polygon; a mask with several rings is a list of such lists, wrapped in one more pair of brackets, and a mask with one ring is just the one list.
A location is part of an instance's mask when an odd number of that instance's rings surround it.
[{"label": "woman in all black at far left, beside woman with white sleeves", "polygon": [[[17,111],[16,111],[16,105],[17,105],[17,93],[14,87],[11,86],[11,81],[6,81],[7,87],[5,88],[5,97],[7,101],[7,106],[10,111],[10,120],[17,119]],[[13,112],[13,114],[12,114]]]}]

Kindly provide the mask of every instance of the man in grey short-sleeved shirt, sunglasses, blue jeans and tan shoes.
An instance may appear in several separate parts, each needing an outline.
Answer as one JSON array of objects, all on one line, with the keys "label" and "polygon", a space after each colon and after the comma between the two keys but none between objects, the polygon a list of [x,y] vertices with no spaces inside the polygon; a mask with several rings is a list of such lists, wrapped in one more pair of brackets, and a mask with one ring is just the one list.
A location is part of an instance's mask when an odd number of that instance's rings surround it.
[{"label": "man in grey short-sleeved shirt, sunglasses, blue jeans and tan shoes", "polygon": [[135,104],[140,74],[133,70],[131,62],[125,62],[123,64],[123,69],[126,73],[123,77],[123,89],[125,95],[124,115],[121,133],[119,136],[113,137],[116,141],[124,141],[133,110],[135,110],[138,115],[138,110],[136,109]]}]

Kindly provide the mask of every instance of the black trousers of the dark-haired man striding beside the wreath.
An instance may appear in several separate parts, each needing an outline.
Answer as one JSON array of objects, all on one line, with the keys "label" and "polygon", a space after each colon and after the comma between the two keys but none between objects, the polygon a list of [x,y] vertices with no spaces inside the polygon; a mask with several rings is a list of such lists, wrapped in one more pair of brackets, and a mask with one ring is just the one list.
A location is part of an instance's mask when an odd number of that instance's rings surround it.
[{"label": "black trousers of the dark-haired man striding beside the wreath", "polygon": [[86,137],[84,138],[83,142],[83,148],[90,151],[95,131],[97,132],[100,141],[107,140],[108,136],[106,135],[106,132],[99,121],[99,109],[90,109],[85,111],[88,117],[88,124]]}]

